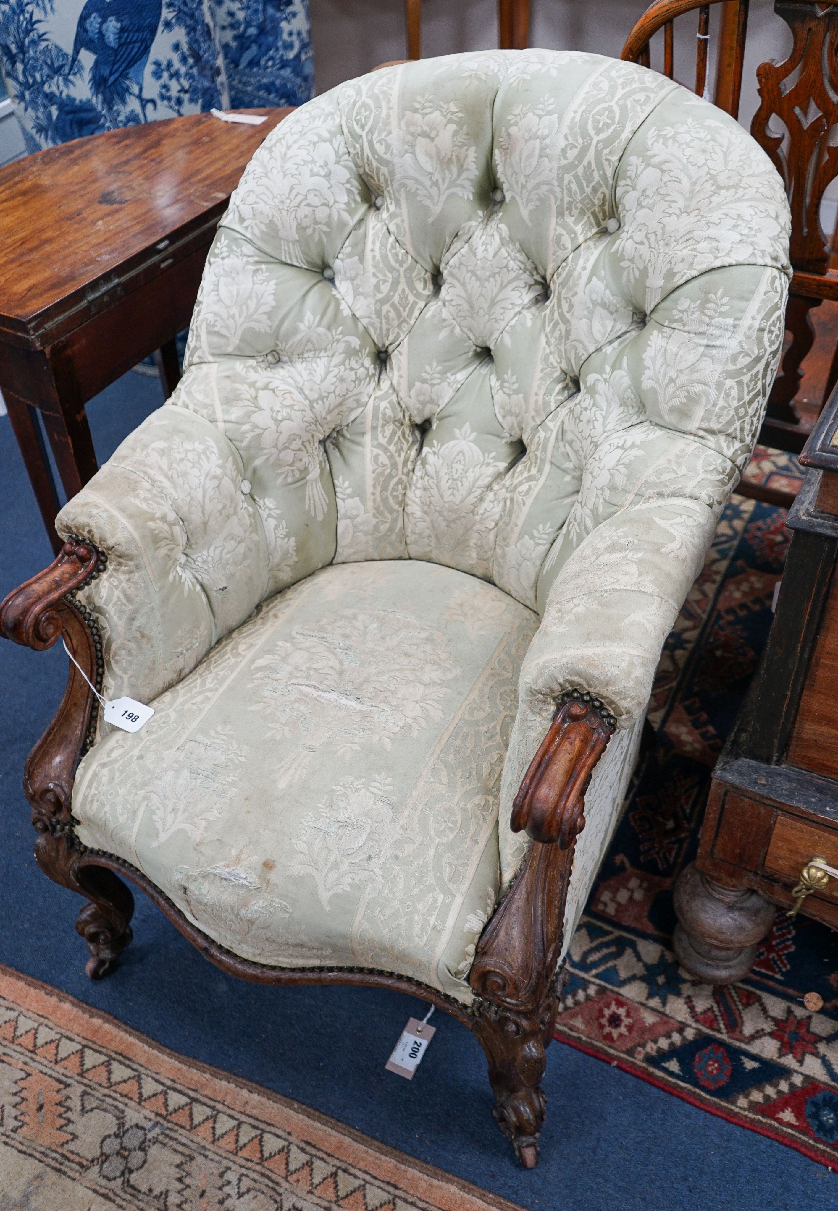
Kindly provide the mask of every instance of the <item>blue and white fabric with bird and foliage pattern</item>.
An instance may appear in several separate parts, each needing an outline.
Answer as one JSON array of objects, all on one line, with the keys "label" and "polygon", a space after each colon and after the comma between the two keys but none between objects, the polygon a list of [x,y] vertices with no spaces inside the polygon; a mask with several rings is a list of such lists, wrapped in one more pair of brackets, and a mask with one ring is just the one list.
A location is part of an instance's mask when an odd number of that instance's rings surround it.
[{"label": "blue and white fabric with bird and foliage pattern", "polygon": [[308,0],[0,0],[0,71],[29,151],[213,107],[300,105]]}]

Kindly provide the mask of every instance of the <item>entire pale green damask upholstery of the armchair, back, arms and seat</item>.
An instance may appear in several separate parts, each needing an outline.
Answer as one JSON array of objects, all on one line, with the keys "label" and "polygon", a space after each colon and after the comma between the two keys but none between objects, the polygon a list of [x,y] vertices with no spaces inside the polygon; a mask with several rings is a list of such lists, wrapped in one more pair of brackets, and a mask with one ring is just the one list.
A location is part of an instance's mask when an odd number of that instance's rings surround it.
[{"label": "entire pale green damask upholstery of the armchair, back, arms and seat", "polygon": [[567,946],[759,427],[788,228],[736,122],[598,56],[421,61],[286,119],[180,385],[59,518],[109,553],[84,592],[105,693],[157,712],[101,729],[82,840],[240,954],[469,999],[526,850],[512,798],[575,685],[619,731]]}]

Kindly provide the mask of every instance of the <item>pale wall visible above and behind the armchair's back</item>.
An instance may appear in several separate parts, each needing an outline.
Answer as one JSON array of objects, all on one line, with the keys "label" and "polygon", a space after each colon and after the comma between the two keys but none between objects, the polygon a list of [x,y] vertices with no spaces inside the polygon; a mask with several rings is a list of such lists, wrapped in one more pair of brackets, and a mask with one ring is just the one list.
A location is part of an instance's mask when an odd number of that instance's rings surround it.
[{"label": "pale wall visible above and behind the armchair's back", "polygon": [[[596,51],[616,58],[648,2],[533,0],[529,45]],[[402,0],[310,0],[310,5],[318,92],[407,53]],[[684,82],[694,73],[696,23],[696,13],[688,13],[676,23],[676,52],[683,52],[676,57],[676,75]],[[497,46],[497,0],[424,0],[423,34],[426,57]],[[745,125],[750,125],[758,104],[757,64],[768,58],[785,58],[791,45],[788,27],[774,15],[771,0],[751,0],[740,114]]]}]

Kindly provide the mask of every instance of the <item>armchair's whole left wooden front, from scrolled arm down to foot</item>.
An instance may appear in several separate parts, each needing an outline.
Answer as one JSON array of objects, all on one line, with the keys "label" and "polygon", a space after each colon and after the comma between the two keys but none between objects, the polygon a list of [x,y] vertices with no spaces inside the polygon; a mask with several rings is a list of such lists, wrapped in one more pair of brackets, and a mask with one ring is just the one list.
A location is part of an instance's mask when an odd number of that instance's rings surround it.
[{"label": "armchair's whole left wooden front, from scrolled arm down to foot", "polygon": [[[70,539],[45,572],[0,604],[0,635],[34,650],[63,637],[97,688],[102,685],[102,639],[96,619],[76,592],[101,574],[107,558],[91,543]],[[70,664],[64,698],[54,719],[27,758],[23,790],[38,832],[35,860],[53,882],[85,896],[76,930],[87,942],[87,975],[105,975],[131,941],[133,897],[113,871],[88,865],[73,832],[75,771],[96,731],[98,704]]]}]

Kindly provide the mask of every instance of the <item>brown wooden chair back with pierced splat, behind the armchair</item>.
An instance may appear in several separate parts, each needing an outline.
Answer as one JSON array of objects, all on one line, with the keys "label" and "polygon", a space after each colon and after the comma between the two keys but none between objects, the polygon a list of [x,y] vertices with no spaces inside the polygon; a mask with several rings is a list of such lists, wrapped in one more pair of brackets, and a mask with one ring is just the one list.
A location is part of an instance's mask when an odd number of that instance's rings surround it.
[{"label": "brown wooden chair back with pierced splat, behind the armchair", "polygon": [[[656,0],[628,34],[621,58],[650,65],[650,40],[664,33],[664,75],[675,73],[675,19],[698,10],[695,92],[710,97],[707,80],[710,13],[722,7],[718,28],[714,103],[739,116],[748,0]],[[814,343],[809,312],[823,299],[838,300],[832,276],[834,233],[823,231],[821,202],[838,176],[838,6],[776,0],[774,11],[787,23],[793,46],[782,63],[757,68],[760,104],[751,134],[782,177],[792,212],[791,286],[787,328],[792,342],[771,391],[760,441],[799,453],[816,413],[802,415],[794,398],[803,378],[800,363]],[[838,381],[838,349],[827,374],[821,404]],[[758,494],[758,493],[757,493]]]}]

